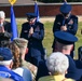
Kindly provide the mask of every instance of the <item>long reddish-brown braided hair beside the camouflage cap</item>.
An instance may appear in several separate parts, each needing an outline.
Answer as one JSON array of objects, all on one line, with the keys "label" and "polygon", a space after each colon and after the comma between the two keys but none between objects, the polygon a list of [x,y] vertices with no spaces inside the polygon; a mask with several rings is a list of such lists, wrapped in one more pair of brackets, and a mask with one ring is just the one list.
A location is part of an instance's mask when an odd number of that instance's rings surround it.
[{"label": "long reddish-brown braided hair beside the camouflage cap", "polygon": [[9,48],[13,54],[13,67],[12,68],[20,67],[22,66],[22,57],[19,54],[18,46],[15,43],[11,42]]}]

